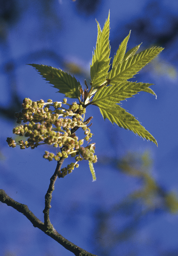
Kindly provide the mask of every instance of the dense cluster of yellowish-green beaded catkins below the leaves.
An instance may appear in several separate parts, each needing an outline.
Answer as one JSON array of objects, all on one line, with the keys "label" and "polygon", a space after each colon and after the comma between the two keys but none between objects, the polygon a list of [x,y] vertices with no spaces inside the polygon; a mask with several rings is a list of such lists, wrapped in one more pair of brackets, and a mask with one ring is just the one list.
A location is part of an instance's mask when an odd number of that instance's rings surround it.
[{"label": "dense cluster of yellowish-green beaded catkins below the leaves", "polygon": [[[66,109],[66,106],[69,108]],[[31,99],[25,98],[22,107],[22,112],[15,114],[17,123],[20,125],[13,129],[13,133],[28,137],[28,139],[15,143],[12,138],[7,138],[10,147],[20,145],[20,149],[28,147],[34,149],[39,145],[47,144],[59,149],[56,150],[56,154],[45,151],[43,157],[49,161],[53,159],[59,161],[60,157],[67,158],[69,155],[75,157],[75,163],[61,169],[61,177],[70,173],[74,167],[78,167],[77,162],[80,160],[85,159],[96,163],[97,157],[93,154],[93,147],[92,150],[89,149],[89,146],[81,147],[84,140],[89,142],[93,135],[87,126],[92,117],[86,121],[83,120],[82,115],[85,115],[85,108],[82,105],[76,102],[69,105],[67,99],[63,99],[63,102],[53,102],[49,99],[45,103],[43,100],[33,102]],[[21,121],[25,124],[22,125]],[[79,140],[75,131],[80,127],[84,130],[85,136]]]}]

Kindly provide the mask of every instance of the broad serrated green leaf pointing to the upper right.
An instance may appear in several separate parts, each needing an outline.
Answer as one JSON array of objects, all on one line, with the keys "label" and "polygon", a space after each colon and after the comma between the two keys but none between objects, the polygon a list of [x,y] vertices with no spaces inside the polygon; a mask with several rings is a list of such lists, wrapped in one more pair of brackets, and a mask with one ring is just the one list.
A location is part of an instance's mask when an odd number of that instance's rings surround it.
[{"label": "broad serrated green leaf pointing to the upper right", "polygon": [[152,47],[141,51],[138,54],[127,58],[122,63],[114,66],[108,74],[110,84],[115,85],[120,81],[132,78],[138,71],[154,59],[161,51],[162,47]]}]

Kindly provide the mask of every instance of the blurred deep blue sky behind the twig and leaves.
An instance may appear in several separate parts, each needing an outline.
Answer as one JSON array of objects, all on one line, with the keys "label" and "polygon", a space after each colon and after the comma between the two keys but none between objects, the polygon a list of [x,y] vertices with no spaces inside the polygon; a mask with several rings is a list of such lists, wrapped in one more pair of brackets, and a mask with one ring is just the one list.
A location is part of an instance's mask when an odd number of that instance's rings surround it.
[{"label": "blurred deep blue sky behind the twig and leaves", "polygon": [[[0,32],[1,110],[11,105],[12,109],[16,107],[15,95],[20,102],[25,97],[33,101],[61,101],[64,98],[62,94],[55,93],[57,89],[46,84],[31,66],[25,65],[27,63],[41,63],[72,72],[69,68],[75,62],[81,71],[75,77],[82,85],[85,78],[89,81],[92,51],[97,38],[95,18],[103,28],[109,9],[111,57],[130,29],[128,49],[141,42],[142,50],[154,45],[164,47],[159,57],[135,78],[138,82],[155,84],[151,88],[157,94],[157,99],[142,92],[123,102],[123,108],[137,117],[156,138],[158,148],[133,132],[104,121],[99,109],[89,106],[86,118],[93,116],[91,132],[98,156],[98,163],[94,166],[97,180],[91,182],[86,162],[80,163],[80,167],[64,179],[58,179],[50,219],[60,234],[93,254],[177,255],[177,215],[159,207],[157,202],[156,207],[147,210],[146,214],[144,204],[127,203],[128,195],[142,186],[142,181],[123,174],[117,167],[117,161],[128,151],[140,155],[145,151],[150,152],[153,164],[148,171],[157,184],[164,192],[178,191],[178,3],[163,0],[103,0],[96,9],[91,8],[92,11],[88,10],[87,13],[80,5],[82,1],[77,1],[19,0],[12,1],[15,3],[14,10],[6,6],[11,16],[3,16],[3,12],[0,12],[3,28]],[[9,148],[6,138],[13,137],[12,129],[16,123],[2,112],[0,117],[0,187],[16,201],[27,204],[43,220],[44,196],[56,162],[49,163],[42,158],[45,147],[34,150]],[[48,147],[48,150],[52,151],[53,148]],[[67,161],[70,159],[66,160],[66,164]],[[123,201],[124,207],[129,206],[133,214],[125,210],[124,214],[109,215],[113,205],[120,205]],[[0,204],[0,207],[0,249],[3,256],[7,253],[18,256],[73,255],[34,228],[16,210],[4,204]],[[135,216],[139,216],[137,221]],[[108,225],[102,226],[104,220]],[[133,224],[128,228],[128,234],[133,234],[128,239],[118,239],[114,243],[113,235],[119,237],[128,223]],[[96,239],[98,236],[102,236],[102,241]],[[114,244],[109,246],[107,241]]]}]

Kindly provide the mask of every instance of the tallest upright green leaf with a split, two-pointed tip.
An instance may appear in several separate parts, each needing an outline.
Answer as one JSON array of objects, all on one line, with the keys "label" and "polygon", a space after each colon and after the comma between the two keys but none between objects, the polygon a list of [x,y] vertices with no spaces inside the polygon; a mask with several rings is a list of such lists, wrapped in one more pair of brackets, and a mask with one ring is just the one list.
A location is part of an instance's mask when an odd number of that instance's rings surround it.
[{"label": "tallest upright green leaf with a split, two-pointed tip", "polygon": [[109,70],[109,15],[108,19],[104,24],[104,28],[101,31],[98,21],[98,37],[96,41],[96,50],[92,58],[92,65],[90,65],[90,76],[92,87],[98,87],[106,80]]}]

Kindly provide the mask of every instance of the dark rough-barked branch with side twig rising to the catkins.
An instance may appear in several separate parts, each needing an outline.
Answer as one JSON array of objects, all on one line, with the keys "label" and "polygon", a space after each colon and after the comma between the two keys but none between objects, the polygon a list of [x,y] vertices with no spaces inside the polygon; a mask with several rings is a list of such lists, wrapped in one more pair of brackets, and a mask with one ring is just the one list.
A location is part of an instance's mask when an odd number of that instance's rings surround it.
[{"label": "dark rough-barked branch with side twig rising to the catkins", "polygon": [[25,215],[29,221],[33,224],[34,227],[38,227],[40,230],[45,232],[45,234],[49,235],[51,238],[53,238],[55,241],[60,243],[64,248],[69,250],[70,252],[73,252],[76,256],[97,256],[90,252],[85,251],[84,249],[80,248],[79,246],[75,245],[74,243],[71,243],[69,240],[64,238],[61,234],[59,234],[53,225],[50,222],[49,218],[49,210],[51,208],[51,199],[52,199],[52,192],[54,190],[54,184],[58,177],[57,172],[61,169],[62,163],[64,161],[64,158],[60,158],[58,161],[57,167],[55,169],[55,172],[53,176],[50,179],[50,185],[47,190],[47,193],[45,195],[45,209],[43,210],[44,213],[44,223],[40,221],[29,209],[27,205],[21,204],[11,197],[7,195],[7,193],[0,189],[0,201],[2,203],[7,204],[8,206],[13,207],[14,209],[18,210],[20,213]]}]

